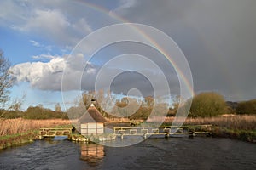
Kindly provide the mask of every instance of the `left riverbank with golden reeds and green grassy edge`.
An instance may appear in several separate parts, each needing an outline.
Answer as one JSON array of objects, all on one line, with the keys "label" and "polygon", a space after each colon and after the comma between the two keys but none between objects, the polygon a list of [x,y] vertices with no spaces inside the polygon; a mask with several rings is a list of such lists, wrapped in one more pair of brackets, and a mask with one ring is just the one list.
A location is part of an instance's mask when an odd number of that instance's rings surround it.
[{"label": "left riverbank with golden reeds and green grassy edge", "polygon": [[0,149],[25,144],[36,139],[40,127],[57,127],[69,125],[69,120],[26,120],[0,119]]}]

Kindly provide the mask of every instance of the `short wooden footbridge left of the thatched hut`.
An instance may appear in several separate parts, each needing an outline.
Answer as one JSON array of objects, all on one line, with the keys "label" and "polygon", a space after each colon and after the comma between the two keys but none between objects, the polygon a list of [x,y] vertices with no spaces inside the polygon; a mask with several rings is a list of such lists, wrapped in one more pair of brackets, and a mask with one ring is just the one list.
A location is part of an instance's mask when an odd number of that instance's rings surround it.
[{"label": "short wooden footbridge left of the thatched hut", "polygon": [[55,136],[68,136],[72,133],[73,127],[49,127],[40,128],[38,139],[44,139],[44,137],[55,137]]}]

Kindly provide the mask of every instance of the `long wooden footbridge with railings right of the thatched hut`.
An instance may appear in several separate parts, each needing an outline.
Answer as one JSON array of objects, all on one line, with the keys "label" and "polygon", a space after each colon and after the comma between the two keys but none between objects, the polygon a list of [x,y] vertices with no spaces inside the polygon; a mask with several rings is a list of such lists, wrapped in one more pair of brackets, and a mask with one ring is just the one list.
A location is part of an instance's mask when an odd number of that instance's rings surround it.
[{"label": "long wooden footbridge with railings right of the thatched hut", "polygon": [[171,136],[188,135],[194,137],[195,135],[203,134],[206,136],[212,135],[212,125],[191,125],[191,126],[169,126],[169,127],[113,127],[113,133],[121,139],[124,136],[148,136],[163,135],[166,138]]}]

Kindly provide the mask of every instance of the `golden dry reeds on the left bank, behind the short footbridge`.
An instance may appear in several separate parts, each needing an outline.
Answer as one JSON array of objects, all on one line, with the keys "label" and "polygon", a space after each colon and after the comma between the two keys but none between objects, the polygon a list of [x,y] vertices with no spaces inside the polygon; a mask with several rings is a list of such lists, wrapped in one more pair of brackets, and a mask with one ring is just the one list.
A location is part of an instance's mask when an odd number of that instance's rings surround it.
[{"label": "golden dry reeds on the left bank, behind the short footbridge", "polygon": [[69,120],[48,119],[48,120],[26,120],[18,119],[0,119],[0,136],[12,135],[17,133],[26,133],[40,127],[56,127],[69,125]]}]

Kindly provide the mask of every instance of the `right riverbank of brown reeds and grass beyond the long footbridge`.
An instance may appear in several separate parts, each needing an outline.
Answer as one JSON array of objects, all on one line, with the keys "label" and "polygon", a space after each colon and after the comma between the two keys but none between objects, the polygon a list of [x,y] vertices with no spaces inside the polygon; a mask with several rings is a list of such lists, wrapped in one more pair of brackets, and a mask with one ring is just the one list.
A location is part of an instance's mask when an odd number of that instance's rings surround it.
[{"label": "right riverbank of brown reeds and grass beyond the long footbridge", "polygon": [[[174,117],[167,117],[165,124],[172,124]],[[212,135],[230,139],[241,139],[256,143],[256,116],[231,115],[205,118],[187,118],[184,125],[212,124]]]}]

